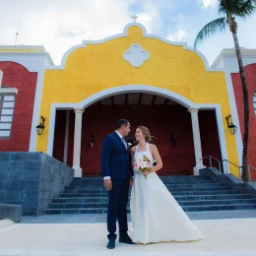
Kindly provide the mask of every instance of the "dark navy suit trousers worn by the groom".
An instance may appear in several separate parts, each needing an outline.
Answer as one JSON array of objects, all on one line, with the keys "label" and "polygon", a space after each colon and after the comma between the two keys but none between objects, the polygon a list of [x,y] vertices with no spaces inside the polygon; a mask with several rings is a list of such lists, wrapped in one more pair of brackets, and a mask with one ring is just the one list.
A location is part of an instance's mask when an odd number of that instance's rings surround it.
[{"label": "dark navy suit trousers worn by the groom", "polygon": [[108,191],[108,208],[107,208],[107,235],[109,240],[116,239],[116,220],[119,225],[119,235],[121,237],[128,236],[127,224],[127,203],[130,187],[130,178],[127,179],[111,179],[112,189]]}]

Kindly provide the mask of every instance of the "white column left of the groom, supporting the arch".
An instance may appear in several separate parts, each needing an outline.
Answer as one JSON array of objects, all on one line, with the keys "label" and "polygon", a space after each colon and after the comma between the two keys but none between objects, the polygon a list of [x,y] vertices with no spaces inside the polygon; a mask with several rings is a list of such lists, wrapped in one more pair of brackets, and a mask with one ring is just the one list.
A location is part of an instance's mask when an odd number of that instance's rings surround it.
[{"label": "white column left of the groom, supporting the arch", "polygon": [[75,108],[75,134],[74,134],[74,153],[73,168],[75,169],[75,177],[82,177],[82,168],[80,167],[81,157],[81,139],[82,139],[82,115],[84,108]]}]

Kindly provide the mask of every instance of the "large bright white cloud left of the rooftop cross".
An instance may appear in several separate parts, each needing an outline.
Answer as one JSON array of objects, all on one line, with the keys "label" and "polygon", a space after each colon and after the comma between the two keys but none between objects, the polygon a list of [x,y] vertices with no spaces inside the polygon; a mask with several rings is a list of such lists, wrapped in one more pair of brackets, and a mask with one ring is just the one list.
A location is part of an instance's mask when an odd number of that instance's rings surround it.
[{"label": "large bright white cloud left of the rooftop cross", "polygon": [[[120,33],[132,22],[129,6],[135,0],[9,0],[0,9],[0,44],[43,45],[55,64],[84,39]],[[28,8],[28,6],[30,8]]]}]

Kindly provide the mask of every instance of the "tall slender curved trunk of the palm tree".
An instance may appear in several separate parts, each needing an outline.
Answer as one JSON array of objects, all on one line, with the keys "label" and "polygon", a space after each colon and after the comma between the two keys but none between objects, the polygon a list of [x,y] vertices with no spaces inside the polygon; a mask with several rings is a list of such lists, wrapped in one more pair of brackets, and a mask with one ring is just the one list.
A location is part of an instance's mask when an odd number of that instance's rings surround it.
[{"label": "tall slender curved trunk of the palm tree", "polygon": [[248,90],[247,83],[245,79],[244,67],[242,62],[241,51],[238,43],[238,38],[236,34],[237,25],[235,21],[229,23],[230,31],[232,32],[233,42],[236,52],[236,57],[238,61],[240,78],[242,83],[242,93],[243,93],[243,111],[244,111],[244,133],[243,133],[243,151],[242,151],[242,176],[241,179],[244,182],[248,181],[248,171],[247,171],[247,158],[248,158],[248,135],[249,135],[249,101],[248,101]]}]

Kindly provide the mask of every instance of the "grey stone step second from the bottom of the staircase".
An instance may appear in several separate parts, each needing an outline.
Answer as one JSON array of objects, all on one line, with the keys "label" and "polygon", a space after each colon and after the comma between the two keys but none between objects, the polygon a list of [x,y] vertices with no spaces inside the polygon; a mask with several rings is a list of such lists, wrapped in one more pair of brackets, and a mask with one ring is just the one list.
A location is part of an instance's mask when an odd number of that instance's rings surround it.
[{"label": "grey stone step second from the bottom of the staircase", "polygon": [[[214,206],[214,205],[238,205],[238,204],[255,204],[256,200],[201,200],[201,201],[177,201],[178,204],[183,206]],[[73,209],[73,208],[80,208],[80,209],[87,209],[87,208],[107,208],[107,202],[104,203],[51,203],[49,204],[49,209]]]}]

